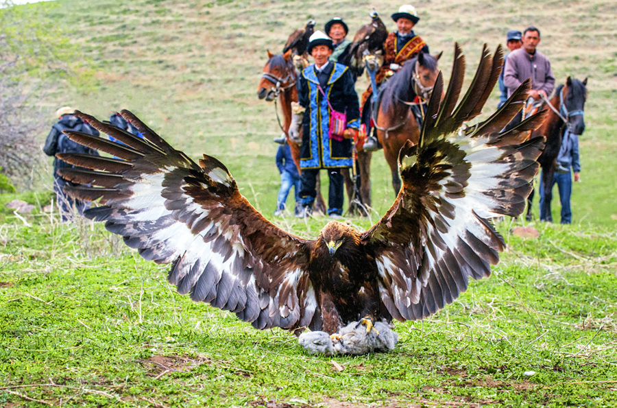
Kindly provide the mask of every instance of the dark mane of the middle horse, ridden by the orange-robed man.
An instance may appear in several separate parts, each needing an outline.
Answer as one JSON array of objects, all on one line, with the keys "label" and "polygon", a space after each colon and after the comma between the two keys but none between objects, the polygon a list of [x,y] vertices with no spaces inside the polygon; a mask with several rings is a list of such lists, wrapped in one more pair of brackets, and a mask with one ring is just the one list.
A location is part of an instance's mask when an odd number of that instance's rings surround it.
[{"label": "dark mane of the middle horse, ridden by the orange-robed man", "polygon": [[[411,86],[411,81],[415,74],[415,62],[418,56],[407,61],[402,69],[392,75],[392,77],[381,87],[377,97],[377,106],[385,111],[390,104],[400,104],[400,102],[411,102],[416,97]],[[435,71],[437,69],[437,58],[425,53],[422,58],[422,67]]]}]

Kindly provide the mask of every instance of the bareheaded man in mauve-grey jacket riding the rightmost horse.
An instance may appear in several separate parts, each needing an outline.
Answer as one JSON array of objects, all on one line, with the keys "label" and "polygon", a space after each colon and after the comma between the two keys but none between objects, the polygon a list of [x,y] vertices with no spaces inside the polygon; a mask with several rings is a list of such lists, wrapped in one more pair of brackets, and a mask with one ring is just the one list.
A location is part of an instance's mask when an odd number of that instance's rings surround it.
[{"label": "bareheaded man in mauve-grey jacket riding the rightmost horse", "polygon": [[[522,48],[509,53],[505,62],[503,82],[508,88],[508,97],[527,78],[531,78],[529,97],[534,101],[546,99],[555,89],[555,75],[548,58],[537,51],[540,44],[540,30],[536,27],[525,29],[522,38]],[[506,126],[506,130],[513,128],[522,121],[522,111]]]}]

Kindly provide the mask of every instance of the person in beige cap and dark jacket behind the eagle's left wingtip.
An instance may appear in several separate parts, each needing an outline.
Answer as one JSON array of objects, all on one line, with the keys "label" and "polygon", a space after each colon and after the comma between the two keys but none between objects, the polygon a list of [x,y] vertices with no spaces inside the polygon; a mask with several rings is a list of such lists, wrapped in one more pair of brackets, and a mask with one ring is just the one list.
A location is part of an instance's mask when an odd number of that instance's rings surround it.
[{"label": "person in beige cap and dark jacket behind the eagle's left wingtip", "polygon": [[[43,152],[45,152],[47,156],[56,156],[58,153],[84,153],[99,156],[99,152],[96,150],[75,143],[64,134],[64,130],[70,130],[71,132],[83,132],[99,136],[98,130],[92,128],[88,123],[82,121],[82,119],[73,116],[73,112],[75,112],[75,110],[69,106],[63,106],[56,110],[56,117],[59,119],[58,123],[51,127],[51,131],[45,140],[45,146],[43,146]],[[69,163],[63,162],[57,157],[53,159],[53,191],[56,192],[56,202],[58,203],[62,221],[67,221],[70,218],[73,207],[78,213],[82,214],[84,210],[88,208],[88,203],[82,202],[81,200],[74,200],[64,193],[64,187],[66,185],[77,185],[64,181],[58,176],[58,169],[64,167],[71,168],[75,166],[69,165]]]}]

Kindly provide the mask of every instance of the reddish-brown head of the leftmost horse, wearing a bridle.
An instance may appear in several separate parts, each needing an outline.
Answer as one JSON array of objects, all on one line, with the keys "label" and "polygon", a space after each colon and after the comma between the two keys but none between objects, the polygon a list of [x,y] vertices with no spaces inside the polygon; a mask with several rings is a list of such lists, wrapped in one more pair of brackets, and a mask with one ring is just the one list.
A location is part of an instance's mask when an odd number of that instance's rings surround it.
[{"label": "reddish-brown head of the leftmost horse, wearing a bridle", "polygon": [[268,51],[268,62],[257,87],[257,97],[272,101],[280,91],[295,85],[295,69],[291,62],[291,50],[273,55]]}]

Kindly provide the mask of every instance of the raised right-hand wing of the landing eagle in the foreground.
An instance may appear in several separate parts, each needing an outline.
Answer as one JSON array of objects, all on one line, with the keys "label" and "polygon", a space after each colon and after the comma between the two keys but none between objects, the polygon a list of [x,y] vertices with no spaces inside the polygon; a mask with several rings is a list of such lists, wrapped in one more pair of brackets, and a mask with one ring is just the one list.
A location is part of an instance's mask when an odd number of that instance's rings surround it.
[{"label": "raised right-hand wing of the landing eagle in the foreground", "polygon": [[541,137],[524,140],[542,114],[510,132],[500,130],[522,107],[531,83],[524,82],[487,121],[461,127],[479,114],[502,62],[500,48],[493,57],[485,47],[474,80],[456,106],[464,71],[457,45],[444,101],[439,105],[439,74],[420,142],[408,141],[401,149],[403,187],[396,202],[362,237],[378,265],[381,301],[398,320],[431,315],[465,291],[469,277],[488,276],[504,242],[487,219],[524,210],[544,145]]}]

